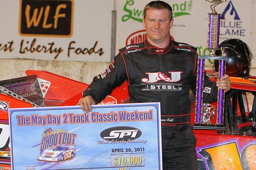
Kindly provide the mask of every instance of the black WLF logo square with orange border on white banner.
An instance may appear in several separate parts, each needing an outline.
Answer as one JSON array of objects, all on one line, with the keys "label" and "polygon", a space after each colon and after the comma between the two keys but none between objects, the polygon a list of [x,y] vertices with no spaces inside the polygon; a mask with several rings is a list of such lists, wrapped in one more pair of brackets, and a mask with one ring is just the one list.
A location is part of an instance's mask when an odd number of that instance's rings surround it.
[{"label": "black WLF logo square with orange border on white banner", "polygon": [[20,0],[21,36],[71,37],[73,0]]}]

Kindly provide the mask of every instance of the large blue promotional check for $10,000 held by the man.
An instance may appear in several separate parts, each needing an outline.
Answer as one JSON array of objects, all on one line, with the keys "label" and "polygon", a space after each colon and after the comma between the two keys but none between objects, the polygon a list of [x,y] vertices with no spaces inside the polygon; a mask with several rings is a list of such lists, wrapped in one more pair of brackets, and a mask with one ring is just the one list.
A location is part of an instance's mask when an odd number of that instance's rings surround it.
[{"label": "large blue promotional check for $10,000 held by the man", "polygon": [[12,169],[161,169],[160,103],[9,109]]}]

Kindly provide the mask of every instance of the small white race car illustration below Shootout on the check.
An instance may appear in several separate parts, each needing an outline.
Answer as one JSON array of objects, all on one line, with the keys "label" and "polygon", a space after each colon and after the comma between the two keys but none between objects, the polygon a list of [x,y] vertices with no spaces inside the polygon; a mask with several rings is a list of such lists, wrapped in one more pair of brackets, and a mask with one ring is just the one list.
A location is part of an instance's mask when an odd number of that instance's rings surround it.
[{"label": "small white race car illustration below Shootout on the check", "polygon": [[45,149],[40,155],[38,161],[59,162],[71,159],[76,156],[75,146],[54,146]]}]

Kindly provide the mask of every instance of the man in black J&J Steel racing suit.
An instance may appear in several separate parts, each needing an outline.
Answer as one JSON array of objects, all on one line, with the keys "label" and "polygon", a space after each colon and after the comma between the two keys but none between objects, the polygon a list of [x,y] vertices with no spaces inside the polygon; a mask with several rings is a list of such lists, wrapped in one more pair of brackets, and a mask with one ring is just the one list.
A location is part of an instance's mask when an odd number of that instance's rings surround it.
[{"label": "man in black J&J Steel racing suit", "polygon": [[[152,1],[144,8],[147,39],[120,49],[104,74],[93,78],[80,101],[85,112],[127,81],[130,103],[160,102],[163,169],[197,169],[196,139],[190,124],[190,89],[196,91],[196,48],[170,38],[173,11],[168,3]],[[230,89],[228,75],[212,83],[207,76],[204,102],[217,99],[217,90]],[[163,122],[165,118],[174,121]]]}]

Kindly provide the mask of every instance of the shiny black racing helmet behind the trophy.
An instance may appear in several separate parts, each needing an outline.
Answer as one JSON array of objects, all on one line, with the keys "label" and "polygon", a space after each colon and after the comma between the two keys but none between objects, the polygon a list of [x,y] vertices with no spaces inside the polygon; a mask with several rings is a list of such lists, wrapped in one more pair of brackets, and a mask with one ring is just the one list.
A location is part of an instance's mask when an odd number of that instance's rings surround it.
[{"label": "shiny black racing helmet behind the trophy", "polygon": [[[221,52],[223,48],[223,52]],[[247,43],[239,39],[227,39],[219,44],[216,56],[227,57],[226,74],[232,77],[248,77],[253,54]],[[214,61],[215,71],[219,71],[219,60]]]}]

